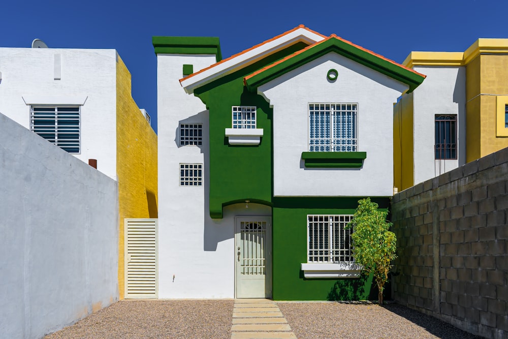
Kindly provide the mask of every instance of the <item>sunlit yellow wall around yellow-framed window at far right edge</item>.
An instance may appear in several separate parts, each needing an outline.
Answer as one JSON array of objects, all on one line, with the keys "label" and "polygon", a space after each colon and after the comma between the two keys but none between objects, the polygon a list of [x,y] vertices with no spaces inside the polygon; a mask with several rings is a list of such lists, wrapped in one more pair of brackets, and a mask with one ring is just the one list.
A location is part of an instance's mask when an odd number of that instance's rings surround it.
[{"label": "sunlit yellow wall around yellow-framed window at far right edge", "polygon": [[496,136],[496,96],[508,95],[508,55],[481,55],[481,150],[484,157],[508,147],[507,137]]}]

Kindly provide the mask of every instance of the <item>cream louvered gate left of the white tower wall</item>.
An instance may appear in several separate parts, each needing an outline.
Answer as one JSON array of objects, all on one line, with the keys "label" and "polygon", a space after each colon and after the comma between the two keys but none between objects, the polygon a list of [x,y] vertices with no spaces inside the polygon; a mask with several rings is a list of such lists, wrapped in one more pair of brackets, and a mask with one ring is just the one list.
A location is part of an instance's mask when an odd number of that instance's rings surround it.
[{"label": "cream louvered gate left of the white tower wall", "polygon": [[157,219],[125,219],[125,298],[157,298]]}]

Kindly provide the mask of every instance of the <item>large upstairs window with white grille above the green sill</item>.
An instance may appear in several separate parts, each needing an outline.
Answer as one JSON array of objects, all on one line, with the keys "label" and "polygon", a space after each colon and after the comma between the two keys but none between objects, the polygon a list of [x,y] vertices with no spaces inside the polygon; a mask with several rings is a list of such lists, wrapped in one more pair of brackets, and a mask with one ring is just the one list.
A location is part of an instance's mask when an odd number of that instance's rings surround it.
[{"label": "large upstairs window with white grille above the green sill", "polygon": [[309,104],[309,151],[357,151],[357,113],[357,104]]}]

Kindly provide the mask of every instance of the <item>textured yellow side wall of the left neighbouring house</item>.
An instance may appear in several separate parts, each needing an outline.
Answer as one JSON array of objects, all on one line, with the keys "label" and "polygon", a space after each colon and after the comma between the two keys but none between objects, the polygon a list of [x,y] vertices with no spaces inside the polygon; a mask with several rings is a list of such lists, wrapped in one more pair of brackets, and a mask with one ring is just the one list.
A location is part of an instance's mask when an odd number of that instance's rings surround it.
[{"label": "textured yellow side wall of the left neighbouring house", "polygon": [[131,96],[131,73],[116,64],[116,171],[118,175],[118,289],[124,298],[125,218],[157,218],[157,136]]}]

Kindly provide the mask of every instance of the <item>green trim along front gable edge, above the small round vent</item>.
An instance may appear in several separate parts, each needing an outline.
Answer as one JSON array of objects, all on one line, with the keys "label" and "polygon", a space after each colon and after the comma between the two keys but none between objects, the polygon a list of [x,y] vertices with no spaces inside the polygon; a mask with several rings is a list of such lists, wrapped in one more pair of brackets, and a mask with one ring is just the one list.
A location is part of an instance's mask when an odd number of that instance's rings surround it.
[{"label": "green trim along front gable edge, above the small round vent", "polygon": [[246,80],[247,88],[250,91],[256,91],[259,86],[330,52],[343,55],[359,64],[373,69],[374,71],[383,73],[395,80],[407,84],[409,86],[407,93],[412,92],[425,79],[425,77],[411,72],[401,65],[392,64],[390,61],[371,54],[361,48],[350,45],[337,38],[331,38],[322,43],[312,45],[305,51],[282,61],[280,64],[252,76]]}]

